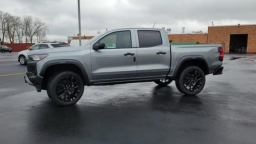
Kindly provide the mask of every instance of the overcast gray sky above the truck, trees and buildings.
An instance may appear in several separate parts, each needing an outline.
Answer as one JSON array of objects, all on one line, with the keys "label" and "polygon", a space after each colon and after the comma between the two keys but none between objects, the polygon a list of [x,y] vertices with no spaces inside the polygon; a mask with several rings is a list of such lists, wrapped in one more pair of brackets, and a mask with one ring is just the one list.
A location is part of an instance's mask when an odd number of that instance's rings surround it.
[{"label": "overcast gray sky above the truck, trees and buildings", "polygon": [[[80,0],[82,35],[124,27],[172,28],[172,33],[215,25],[256,24],[256,0]],[[78,33],[77,0],[0,0],[1,10],[46,22],[49,40]]]}]

